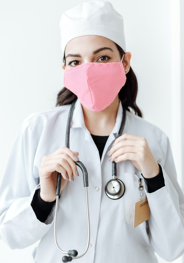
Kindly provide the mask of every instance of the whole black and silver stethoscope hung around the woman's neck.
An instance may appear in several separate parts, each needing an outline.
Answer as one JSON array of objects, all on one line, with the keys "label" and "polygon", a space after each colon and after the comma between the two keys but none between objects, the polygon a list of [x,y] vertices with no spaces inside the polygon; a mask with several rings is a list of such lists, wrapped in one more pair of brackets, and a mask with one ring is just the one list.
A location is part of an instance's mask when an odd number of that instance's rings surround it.
[{"label": "whole black and silver stethoscope hung around the woman's neck", "polygon": [[[68,114],[68,120],[67,120],[67,124],[66,124],[65,146],[67,148],[70,148],[70,145],[69,145],[70,123],[72,120],[75,102],[76,101],[74,101],[70,107],[70,111]],[[122,117],[122,121],[121,121],[121,125],[120,125],[120,129],[119,129],[117,138],[122,135],[124,125],[125,125],[125,121],[126,121],[126,109],[123,106],[123,117]],[[88,189],[87,189],[87,187],[88,187],[88,174],[87,174],[86,167],[83,165],[83,163],[81,161],[77,161],[76,165],[81,169],[81,171],[83,173],[83,182],[84,182],[85,195],[86,195],[88,238],[87,238],[86,249],[80,256],[78,256],[78,252],[76,250],[63,251],[62,249],[60,249],[60,247],[57,243],[57,235],[56,235],[57,210],[58,210],[58,203],[59,203],[60,190],[61,190],[61,180],[62,180],[61,174],[57,173],[57,183],[56,183],[56,192],[55,192],[56,207],[55,207],[55,220],[54,220],[54,239],[55,239],[55,245],[56,245],[57,249],[64,254],[68,254],[68,256],[62,257],[63,262],[69,262],[69,261],[72,261],[72,259],[81,258],[83,255],[85,255],[85,253],[87,252],[87,250],[89,248],[89,241],[90,241],[89,202],[88,202]],[[124,183],[121,180],[116,179],[116,163],[113,162],[112,163],[112,180],[109,180],[106,184],[106,187],[105,187],[106,195],[111,199],[119,199],[120,197],[122,197],[124,195],[124,191],[125,191]]]}]

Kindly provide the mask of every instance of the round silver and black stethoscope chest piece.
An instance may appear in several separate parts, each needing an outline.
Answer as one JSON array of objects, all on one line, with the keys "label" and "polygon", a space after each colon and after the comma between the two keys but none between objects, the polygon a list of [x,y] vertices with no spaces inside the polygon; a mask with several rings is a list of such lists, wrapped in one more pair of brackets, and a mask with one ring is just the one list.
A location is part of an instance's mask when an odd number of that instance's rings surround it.
[{"label": "round silver and black stethoscope chest piece", "polygon": [[111,199],[119,199],[124,195],[125,186],[120,179],[115,179],[113,176],[112,180],[109,180],[105,187],[106,195]]}]

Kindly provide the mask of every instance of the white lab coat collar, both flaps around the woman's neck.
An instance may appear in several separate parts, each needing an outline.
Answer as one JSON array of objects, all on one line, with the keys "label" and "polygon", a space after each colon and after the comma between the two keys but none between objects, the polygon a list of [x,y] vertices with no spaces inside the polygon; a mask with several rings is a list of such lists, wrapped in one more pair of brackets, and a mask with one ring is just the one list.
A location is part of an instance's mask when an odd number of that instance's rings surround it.
[{"label": "white lab coat collar, both flaps around the woman's neck", "polygon": [[[114,139],[116,139],[117,134],[120,129],[120,125],[122,121],[122,114],[123,114],[123,108],[122,108],[122,104],[120,101],[119,107],[118,107],[118,113],[116,117],[116,123],[111,133],[114,135]],[[89,136],[91,137],[89,131],[87,130],[85,126],[83,110],[82,110],[81,102],[79,101],[79,99],[77,99],[75,103],[75,109],[74,109],[73,116],[72,116],[71,128],[83,128],[87,132],[85,139],[88,139]]]}]

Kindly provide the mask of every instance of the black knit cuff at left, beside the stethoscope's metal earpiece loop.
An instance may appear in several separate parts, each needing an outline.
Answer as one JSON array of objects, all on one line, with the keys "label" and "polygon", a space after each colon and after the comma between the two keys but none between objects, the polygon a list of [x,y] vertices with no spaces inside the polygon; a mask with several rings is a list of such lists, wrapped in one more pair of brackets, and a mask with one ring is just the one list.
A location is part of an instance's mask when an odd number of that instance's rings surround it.
[{"label": "black knit cuff at left, beside the stethoscope's metal earpiece loop", "polygon": [[31,206],[32,209],[37,217],[37,219],[40,222],[45,222],[48,215],[50,214],[53,205],[55,204],[56,201],[53,202],[45,202],[43,199],[40,197],[40,189],[37,189],[34,193]]}]

